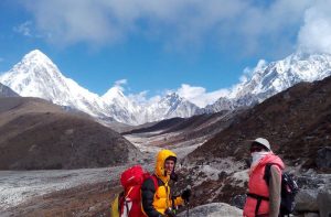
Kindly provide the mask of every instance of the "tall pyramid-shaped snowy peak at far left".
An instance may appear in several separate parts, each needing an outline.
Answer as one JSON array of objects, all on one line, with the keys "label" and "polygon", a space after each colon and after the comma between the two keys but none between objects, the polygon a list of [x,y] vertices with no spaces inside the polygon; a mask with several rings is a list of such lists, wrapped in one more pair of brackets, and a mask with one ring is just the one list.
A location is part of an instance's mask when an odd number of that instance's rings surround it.
[{"label": "tall pyramid-shaped snowy peak at far left", "polygon": [[22,97],[39,97],[54,104],[73,107],[94,117],[103,115],[104,105],[95,94],[64,77],[42,52],[26,54],[12,69],[0,77]]}]

